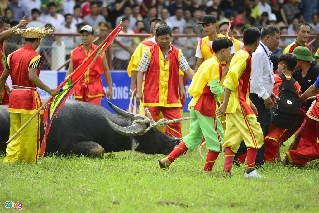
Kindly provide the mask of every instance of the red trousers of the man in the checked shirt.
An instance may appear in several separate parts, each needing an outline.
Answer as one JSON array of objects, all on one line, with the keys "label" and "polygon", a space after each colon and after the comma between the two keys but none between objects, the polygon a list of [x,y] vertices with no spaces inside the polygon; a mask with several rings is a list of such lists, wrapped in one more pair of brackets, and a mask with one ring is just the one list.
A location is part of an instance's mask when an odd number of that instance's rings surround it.
[{"label": "red trousers of the man in the checked shirt", "polygon": [[[157,121],[160,112],[163,113],[164,118],[166,118],[167,120],[181,118],[181,107],[150,107],[149,106],[147,107],[147,109],[151,112],[151,115],[154,121]],[[182,137],[182,122],[179,121],[179,122],[168,124],[166,126],[165,133],[172,137],[181,138]]]}]

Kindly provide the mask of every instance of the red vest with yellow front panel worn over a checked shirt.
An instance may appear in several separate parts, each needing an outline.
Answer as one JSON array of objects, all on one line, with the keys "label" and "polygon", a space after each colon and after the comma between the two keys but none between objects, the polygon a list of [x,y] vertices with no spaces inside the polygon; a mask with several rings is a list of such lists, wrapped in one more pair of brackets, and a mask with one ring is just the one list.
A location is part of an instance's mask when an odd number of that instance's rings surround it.
[{"label": "red vest with yellow front panel worn over a checked shirt", "polygon": [[149,49],[150,65],[145,73],[144,106],[181,107],[178,93],[179,49],[173,45],[166,63],[159,43]]}]

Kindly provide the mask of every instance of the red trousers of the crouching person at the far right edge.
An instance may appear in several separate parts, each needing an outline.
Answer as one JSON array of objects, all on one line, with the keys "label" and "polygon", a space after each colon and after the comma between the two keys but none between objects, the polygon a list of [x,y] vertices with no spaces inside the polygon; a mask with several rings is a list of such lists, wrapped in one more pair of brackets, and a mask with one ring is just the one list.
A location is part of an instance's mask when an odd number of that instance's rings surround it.
[{"label": "red trousers of the crouching person at the far right edge", "polygon": [[304,166],[309,161],[319,159],[319,122],[307,117],[305,134],[296,150],[288,150],[286,155],[291,164]]}]

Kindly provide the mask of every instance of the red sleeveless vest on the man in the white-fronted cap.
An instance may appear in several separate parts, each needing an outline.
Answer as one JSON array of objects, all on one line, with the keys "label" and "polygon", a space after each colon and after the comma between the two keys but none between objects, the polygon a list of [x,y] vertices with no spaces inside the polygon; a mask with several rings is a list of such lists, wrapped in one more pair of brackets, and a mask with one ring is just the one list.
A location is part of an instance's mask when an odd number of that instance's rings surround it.
[{"label": "red sleeveless vest on the man in the white-fronted cap", "polygon": [[[78,68],[79,65],[82,64],[82,62],[98,47],[92,42],[92,47],[87,51],[87,54],[85,55],[85,52],[82,48],[83,44],[81,44],[79,47],[72,50],[72,63],[73,63],[73,69],[75,70]],[[103,53],[104,54],[104,53]],[[105,57],[104,55],[102,57]],[[97,57],[93,64],[90,66],[89,69],[85,72],[84,76],[80,80],[80,84],[75,89],[73,96],[75,98],[83,98],[83,88],[88,88],[89,98],[104,97],[106,94],[103,89],[103,82],[101,80],[101,75],[104,74],[103,64],[102,64],[102,58]]]}]

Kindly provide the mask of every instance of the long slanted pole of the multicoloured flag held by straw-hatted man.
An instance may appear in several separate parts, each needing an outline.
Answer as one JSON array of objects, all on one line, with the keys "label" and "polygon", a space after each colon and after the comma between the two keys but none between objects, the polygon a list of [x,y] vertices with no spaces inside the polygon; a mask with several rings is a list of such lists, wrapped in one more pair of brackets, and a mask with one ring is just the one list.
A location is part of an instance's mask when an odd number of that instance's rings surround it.
[{"label": "long slanted pole of the multicoloured flag held by straw-hatted man", "polygon": [[[76,68],[68,77],[66,77],[66,79],[57,87],[58,89],[60,89],[60,91],[62,91],[63,89],[61,89],[60,87],[62,87],[68,80],[70,80],[70,78],[76,73],[78,72],[79,68],[85,64],[86,61],[88,61],[110,38],[113,34],[118,34],[120,31],[122,30],[122,22],[112,31],[112,33],[110,33],[108,35],[108,37],[89,55],[89,57],[87,57],[81,65],[78,66],[78,68]],[[43,109],[43,107],[50,102],[50,100],[53,98],[52,95],[50,95],[50,97],[47,99],[47,101],[45,103],[42,104],[42,106],[31,116],[31,118],[18,130],[17,133],[15,133],[6,143],[9,144],[15,137],[17,137],[17,135],[31,122],[31,120]]]}]

